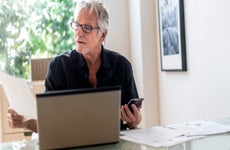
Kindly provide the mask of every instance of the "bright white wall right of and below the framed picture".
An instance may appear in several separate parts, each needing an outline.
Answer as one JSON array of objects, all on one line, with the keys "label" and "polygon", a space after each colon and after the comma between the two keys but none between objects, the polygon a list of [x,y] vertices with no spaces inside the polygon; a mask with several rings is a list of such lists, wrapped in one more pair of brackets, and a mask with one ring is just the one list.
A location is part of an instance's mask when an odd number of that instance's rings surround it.
[{"label": "bright white wall right of and below the framed picture", "polygon": [[230,117],[230,1],[184,1],[187,72],[159,72],[162,124]]}]

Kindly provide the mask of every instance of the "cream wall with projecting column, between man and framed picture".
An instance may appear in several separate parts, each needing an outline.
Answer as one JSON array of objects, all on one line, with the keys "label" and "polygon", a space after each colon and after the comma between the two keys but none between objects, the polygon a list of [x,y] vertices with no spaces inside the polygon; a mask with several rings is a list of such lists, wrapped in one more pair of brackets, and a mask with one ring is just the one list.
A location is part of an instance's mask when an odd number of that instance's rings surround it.
[{"label": "cream wall with projecting column, between man and framed picture", "polygon": [[154,1],[104,2],[110,13],[105,47],[120,52],[132,63],[139,96],[145,98],[141,126],[159,124]]}]

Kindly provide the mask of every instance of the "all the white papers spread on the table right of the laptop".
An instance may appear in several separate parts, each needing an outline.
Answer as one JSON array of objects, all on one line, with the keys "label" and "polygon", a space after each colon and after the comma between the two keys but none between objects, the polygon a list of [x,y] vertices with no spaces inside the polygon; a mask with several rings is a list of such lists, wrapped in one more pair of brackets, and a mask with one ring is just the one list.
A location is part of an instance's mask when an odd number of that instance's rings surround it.
[{"label": "all the white papers spread on the table right of the laptop", "polygon": [[201,120],[165,127],[155,126],[146,129],[122,131],[120,138],[153,147],[170,147],[193,139],[204,138],[208,135],[227,132],[230,132],[230,126]]}]

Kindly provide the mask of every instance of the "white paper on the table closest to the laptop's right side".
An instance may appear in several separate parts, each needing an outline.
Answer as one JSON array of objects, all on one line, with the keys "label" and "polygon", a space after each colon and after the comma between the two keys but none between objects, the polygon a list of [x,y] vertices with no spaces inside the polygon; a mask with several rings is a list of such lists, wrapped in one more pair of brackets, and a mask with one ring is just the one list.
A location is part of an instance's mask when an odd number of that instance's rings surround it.
[{"label": "white paper on the table closest to the laptop's right side", "polygon": [[187,137],[184,131],[155,126],[145,129],[122,131],[123,140],[145,144],[153,147],[169,147],[200,137]]}]

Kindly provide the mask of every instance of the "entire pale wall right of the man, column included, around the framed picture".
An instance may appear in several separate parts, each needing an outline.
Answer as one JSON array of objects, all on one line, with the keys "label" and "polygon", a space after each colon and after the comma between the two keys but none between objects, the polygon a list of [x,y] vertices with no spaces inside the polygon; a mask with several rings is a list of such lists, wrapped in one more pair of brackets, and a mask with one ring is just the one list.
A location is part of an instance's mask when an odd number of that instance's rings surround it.
[{"label": "entire pale wall right of the man, column included, around the framed picture", "polygon": [[106,47],[131,60],[143,126],[230,116],[230,1],[184,0],[186,72],[162,72],[157,0],[104,0],[110,8]]}]

